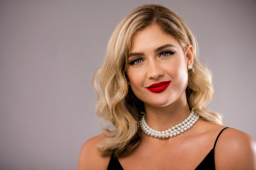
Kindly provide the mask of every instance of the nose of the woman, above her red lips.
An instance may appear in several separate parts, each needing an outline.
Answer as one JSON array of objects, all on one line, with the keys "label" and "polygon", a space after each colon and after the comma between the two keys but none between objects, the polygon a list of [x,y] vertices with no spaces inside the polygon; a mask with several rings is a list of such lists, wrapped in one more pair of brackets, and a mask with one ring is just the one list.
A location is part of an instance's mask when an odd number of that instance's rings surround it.
[{"label": "nose of the woman, above her red lips", "polygon": [[147,65],[147,78],[148,79],[158,79],[163,76],[163,70],[161,65],[157,61],[148,63]]}]

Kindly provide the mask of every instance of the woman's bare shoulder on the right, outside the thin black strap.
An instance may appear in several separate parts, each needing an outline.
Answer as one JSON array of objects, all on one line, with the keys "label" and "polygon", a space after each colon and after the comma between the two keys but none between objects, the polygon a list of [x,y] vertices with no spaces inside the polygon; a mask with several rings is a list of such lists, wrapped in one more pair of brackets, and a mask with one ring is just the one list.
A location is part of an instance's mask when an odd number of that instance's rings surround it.
[{"label": "woman's bare shoulder on the right, outside the thin black strap", "polygon": [[225,129],[215,147],[216,169],[256,169],[256,143],[245,132]]}]

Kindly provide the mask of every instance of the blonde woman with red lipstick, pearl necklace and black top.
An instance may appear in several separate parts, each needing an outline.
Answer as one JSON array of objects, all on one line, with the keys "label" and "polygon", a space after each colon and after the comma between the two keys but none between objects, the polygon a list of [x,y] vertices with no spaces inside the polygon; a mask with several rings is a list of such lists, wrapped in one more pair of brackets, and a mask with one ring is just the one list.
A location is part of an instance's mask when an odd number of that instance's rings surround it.
[{"label": "blonde woman with red lipstick, pearl necklace and black top", "polygon": [[121,21],[94,85],[96,112],[112,126],[84,143],[78,169],[256,169],[255,141],[206,108],[211,74],[189,27],[165,7]]}]

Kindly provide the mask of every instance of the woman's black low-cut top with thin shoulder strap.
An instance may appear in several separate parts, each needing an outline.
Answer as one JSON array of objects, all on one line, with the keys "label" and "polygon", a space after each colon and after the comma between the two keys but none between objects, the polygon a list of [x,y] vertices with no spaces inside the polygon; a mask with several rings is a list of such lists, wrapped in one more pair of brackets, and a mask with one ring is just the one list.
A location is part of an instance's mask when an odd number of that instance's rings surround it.
[{"label": "woman's black low-cut top with thin shoulder strap", "polygon": [[[220,136],[220,134],[222,133],[223,130],[225,130],[228,127],[225,127],[224,129],[222,129],[220,131],[220,133],[218,134],[214,146],[212,148],[212,150],[205,156],[204,160],[201,161],[201,163],[196,167],[196,170],[200,170],[200,169],[215,169],[215,162],[214,162],[214,149],[217,143],[217,140]],[[109,165],[108,165],[108,170],[123,170],[122,165],[120,164],[119,160],[117,159],[117,157],[114,157],[114,155],[112,154],[110,161],[109,161]]]}]

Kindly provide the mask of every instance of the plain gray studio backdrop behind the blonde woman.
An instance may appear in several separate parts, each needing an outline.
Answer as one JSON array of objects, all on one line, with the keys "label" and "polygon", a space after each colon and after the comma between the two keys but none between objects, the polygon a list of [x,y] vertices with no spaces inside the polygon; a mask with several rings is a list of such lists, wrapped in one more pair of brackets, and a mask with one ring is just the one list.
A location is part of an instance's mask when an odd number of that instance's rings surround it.
[{"label": "plain gray studio backdrop behind the blonde woman", "polygon": [[210,107],[256,139],[255,1],[0,1],[1,169],[76,169],[101,133],[92,78],[109,37],[150,3],[192,28],[214,75]]}]

